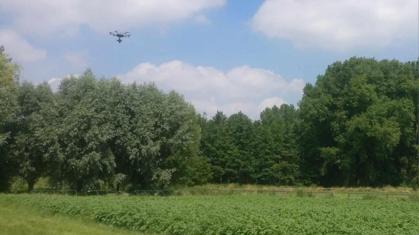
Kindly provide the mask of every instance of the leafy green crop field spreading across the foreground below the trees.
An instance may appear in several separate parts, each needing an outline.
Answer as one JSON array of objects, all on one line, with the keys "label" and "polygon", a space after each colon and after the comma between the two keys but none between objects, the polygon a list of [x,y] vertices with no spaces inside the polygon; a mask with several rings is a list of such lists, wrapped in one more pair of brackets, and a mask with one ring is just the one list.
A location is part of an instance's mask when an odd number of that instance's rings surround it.
[{"label": "leafy green crop field spreading across the foreground below the trees", "polygon": [[0,202],[157,234],[418,234],[404,200],[218,195],[139,197],[0,194]]}]

